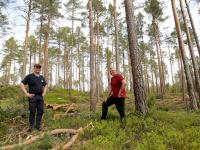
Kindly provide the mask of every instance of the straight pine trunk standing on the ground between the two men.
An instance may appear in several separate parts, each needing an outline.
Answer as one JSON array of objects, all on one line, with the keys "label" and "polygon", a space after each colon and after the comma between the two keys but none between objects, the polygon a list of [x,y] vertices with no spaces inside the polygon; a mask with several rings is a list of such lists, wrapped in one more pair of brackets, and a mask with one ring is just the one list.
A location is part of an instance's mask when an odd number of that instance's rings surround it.
[{"label": "straight pine trunk standing on the ground between the two men", "polygon": [[94,32],[93,32],[93,15],[92,15],[92,0],[89,3],[89,28],[90,28],[90,111],[95,112],[96,110],[96,99],[95,99],[95,63],[94,63]]}]

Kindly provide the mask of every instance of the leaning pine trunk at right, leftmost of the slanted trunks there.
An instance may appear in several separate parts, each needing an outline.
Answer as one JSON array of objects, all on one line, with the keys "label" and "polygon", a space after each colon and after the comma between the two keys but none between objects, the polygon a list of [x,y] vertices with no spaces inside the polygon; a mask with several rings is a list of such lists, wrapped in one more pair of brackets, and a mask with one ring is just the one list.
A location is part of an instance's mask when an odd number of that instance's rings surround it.
[{"label": "leaning pine trunk at right, leftmost of the slanted trunks there", "polygon": [[178,36],[178,42],[179,42],[179,48],[180,48],[179,50],[181,52],[184,70],[185,70],[185,76],[186,76],[186,80],[187,80],[187,88],[188,88],[188,93],[189,93],[189,97],[190,97],[191,109],[198,110],[197,100],[195,98],[195,93],[194,93],[195,89],[194,89],[194,85],[192,83],[192,77],[191,77],[191,74],[190,74],[190,71],[189,71],[189,65],[188,65],[187,60],[186,60],[185,48],[184,48],[184,43],[183,43],[183,40],[182,40],[180,22],[179,22],[178,15],[177,15],[177,12],[176,12],[175,0],[171,0],[171,3],[172,3],[174,21],[175,21],[175,25],[176,25],[177,36]]}]

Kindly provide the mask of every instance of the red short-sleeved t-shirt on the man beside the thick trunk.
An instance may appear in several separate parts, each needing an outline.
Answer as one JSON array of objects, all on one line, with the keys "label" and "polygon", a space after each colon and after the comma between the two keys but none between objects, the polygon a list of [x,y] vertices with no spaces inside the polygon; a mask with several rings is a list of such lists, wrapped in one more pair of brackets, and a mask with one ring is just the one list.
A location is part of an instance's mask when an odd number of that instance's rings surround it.
[{"label": "red short-sleeved t-shirt on the man beside the thick trunk", "polygon": [[[118,97],[118,93],[122,86],[123,79],[124,79],[124,77],[121,74],[116,74],[111,78],[111,88],[113,91],[113,97]],[[125,87],[124,87],[124,89],[122,89],[121,96],[124,98],[126,97]]]}]

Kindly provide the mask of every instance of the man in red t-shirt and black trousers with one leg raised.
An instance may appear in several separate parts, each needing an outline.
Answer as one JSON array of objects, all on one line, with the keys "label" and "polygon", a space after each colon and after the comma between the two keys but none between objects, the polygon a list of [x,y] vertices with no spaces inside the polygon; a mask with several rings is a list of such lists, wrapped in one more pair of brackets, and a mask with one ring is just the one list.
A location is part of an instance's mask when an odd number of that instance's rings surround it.
[{"label": "man in red t-shirt and black trousers with one leg raised", "polygon": [[105,120],[108,112],[108,107],[115,104],[119,114],[120,120],[123,125],[125,117],[125,98],[126,98],[126,80],[115,69],[110,68],[111,78],[111,91],[109,97],[102,104],[101,119]]}]

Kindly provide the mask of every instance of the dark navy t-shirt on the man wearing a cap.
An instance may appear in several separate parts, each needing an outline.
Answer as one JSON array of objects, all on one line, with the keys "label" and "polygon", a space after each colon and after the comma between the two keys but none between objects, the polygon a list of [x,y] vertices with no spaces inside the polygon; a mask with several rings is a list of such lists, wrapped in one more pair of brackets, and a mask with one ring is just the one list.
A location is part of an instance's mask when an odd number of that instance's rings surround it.
[{"label": "dark navy t-shirt on the man wearing a cap", "polygon": [[29,93],[42,95],[44,86],[47,84],[43,76],[36,76],[34,73],[27,75],[22,83],[29,86]]}]

